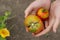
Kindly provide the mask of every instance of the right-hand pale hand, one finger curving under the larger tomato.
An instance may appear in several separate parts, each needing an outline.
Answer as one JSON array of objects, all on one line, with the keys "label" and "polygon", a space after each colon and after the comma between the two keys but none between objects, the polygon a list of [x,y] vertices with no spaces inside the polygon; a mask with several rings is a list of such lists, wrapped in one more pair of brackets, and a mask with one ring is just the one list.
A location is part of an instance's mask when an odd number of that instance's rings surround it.
[{"label": "right-hand pale hand, one finger curving under the larger tomato", "polygon": [[58,28],[58,25],[60,23],[60,1],[55,1],[51,4],[50,16],[47,23],[49,24],[48,27],[46,27],[46,29],[43,30],[41,33],[34,36],[37,37],[44,35],[47,32],[49,32],[52,27],[53,27],[53,32],[56,33],[56,29]]}]

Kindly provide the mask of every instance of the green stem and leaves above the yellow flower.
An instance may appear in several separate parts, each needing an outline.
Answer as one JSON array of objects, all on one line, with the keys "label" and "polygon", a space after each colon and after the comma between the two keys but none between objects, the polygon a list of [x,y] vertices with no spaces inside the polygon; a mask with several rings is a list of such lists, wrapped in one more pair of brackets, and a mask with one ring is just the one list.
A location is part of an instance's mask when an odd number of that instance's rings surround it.
[{"label": "green stem and leaves above the yellow flower", "polygon": [[10,11],[5,11],[5,15],[4,16],[0,16],[0,29],[6,27],[5,21],[8,19],[10,14],[11,14]]}]

